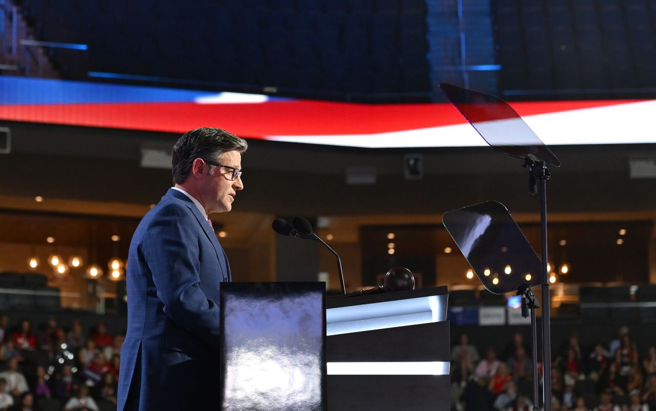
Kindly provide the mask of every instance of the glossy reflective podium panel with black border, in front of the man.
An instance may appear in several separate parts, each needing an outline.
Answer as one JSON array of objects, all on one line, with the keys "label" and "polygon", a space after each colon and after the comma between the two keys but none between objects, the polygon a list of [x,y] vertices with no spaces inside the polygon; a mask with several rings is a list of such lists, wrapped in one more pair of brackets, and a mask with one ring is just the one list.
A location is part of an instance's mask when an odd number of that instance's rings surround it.
[{"label": "glossy reflective podium panel with black border, in front of the man", "polygon": [[221,409],[327,410],[325,283],[222,283]]}]

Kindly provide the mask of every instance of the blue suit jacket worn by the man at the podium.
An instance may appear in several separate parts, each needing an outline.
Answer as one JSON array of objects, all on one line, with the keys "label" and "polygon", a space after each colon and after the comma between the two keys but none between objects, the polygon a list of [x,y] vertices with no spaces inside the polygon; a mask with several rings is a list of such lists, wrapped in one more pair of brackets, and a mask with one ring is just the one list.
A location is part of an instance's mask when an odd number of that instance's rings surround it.
[{"label": "blue suit jacket worn by the man at the podium", "polygon": [[203,214],[169,189],[130,245],[119,411],[220,407],[219,286],[231,280]]}]

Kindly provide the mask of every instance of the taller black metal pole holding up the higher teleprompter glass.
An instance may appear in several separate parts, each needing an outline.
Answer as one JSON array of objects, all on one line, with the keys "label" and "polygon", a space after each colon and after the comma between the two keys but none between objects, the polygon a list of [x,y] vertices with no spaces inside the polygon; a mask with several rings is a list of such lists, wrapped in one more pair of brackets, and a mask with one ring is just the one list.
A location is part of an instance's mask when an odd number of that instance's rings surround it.
[{"label": "taller black metal pole holding up the higher teleprompter glass", "polygon": [[[549,300],[549,273],[546,269],[548,262],[546,249],[546,180],[549,171],[544,163],[538,165],[540,170],[540,222],[542,225],[542,369],[543,369],[543,396],[544,411],[551,411],[551,321]],[[535,315],[535,313],[533,313]],[[535,338],[535,336],[534,336]],[[535,376],[537,378],[537,376]],[[537,404],[535,404],[537,406]]]}]

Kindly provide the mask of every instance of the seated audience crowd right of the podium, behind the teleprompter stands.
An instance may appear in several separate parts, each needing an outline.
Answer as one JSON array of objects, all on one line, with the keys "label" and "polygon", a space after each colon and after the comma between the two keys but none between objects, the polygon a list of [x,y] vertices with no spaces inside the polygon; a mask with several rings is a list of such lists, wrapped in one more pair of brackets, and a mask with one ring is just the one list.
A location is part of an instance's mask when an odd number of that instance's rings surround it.
[{"label": "seated audience crowd right of the podium, behind the teleprompter stands", "polygon": [[[481,358],[478,347],[461,334],[451,347],[451,408],[531,411],[531,352],[518,332],[501,352],[487,347]],[[541,376],[541,361],[537,368]],[[613,340],[592,347],[583,347],[571,334],[562,345],[553,345],[551,370],[553,410],[656,411],[656,346],[639,351],[626,326]]]}]

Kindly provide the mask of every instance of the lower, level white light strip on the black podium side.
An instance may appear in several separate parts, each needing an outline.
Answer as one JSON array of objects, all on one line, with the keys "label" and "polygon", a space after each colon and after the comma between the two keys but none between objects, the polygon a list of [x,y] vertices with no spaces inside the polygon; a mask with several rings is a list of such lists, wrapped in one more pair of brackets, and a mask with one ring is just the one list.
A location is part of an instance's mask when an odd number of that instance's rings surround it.
[{"label": "lower, level white light strip on the black podium side", "polygon": [[328,362],[329,376],[447,376],[445,361],[415,362]]}]

